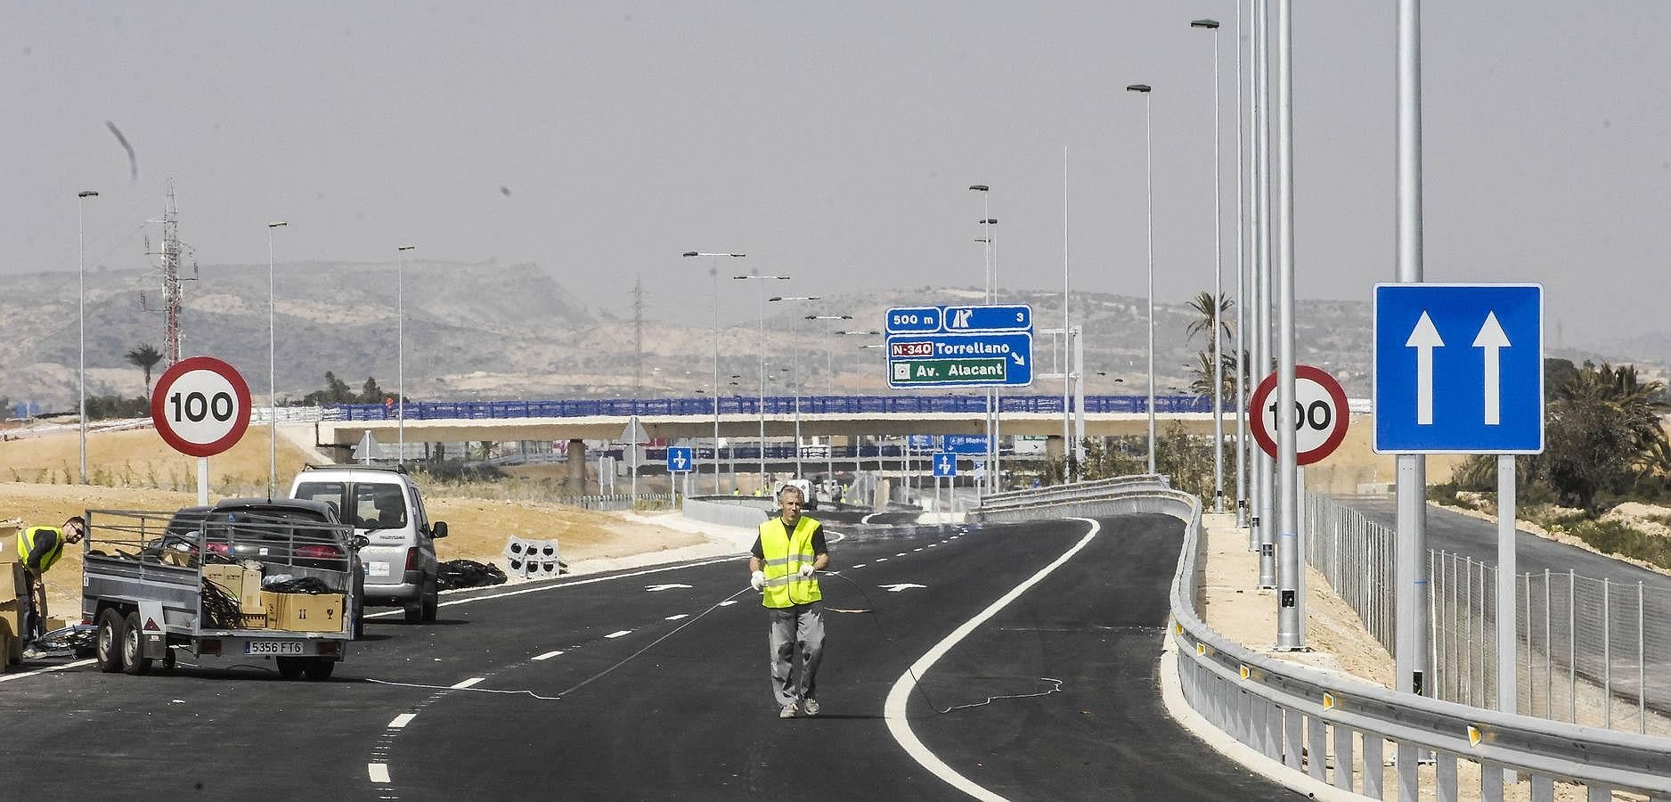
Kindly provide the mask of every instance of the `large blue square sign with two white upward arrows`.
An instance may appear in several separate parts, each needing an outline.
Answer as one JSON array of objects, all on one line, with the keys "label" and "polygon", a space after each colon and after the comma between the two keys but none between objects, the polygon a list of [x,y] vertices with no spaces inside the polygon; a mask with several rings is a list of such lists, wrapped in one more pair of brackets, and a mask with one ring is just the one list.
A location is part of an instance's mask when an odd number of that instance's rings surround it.
[{"label": "large blue square sign with two white upward arrows", "polygon": [[1374,351],[1377,453],[1542,453],[1541,284],[1377,284]]}]

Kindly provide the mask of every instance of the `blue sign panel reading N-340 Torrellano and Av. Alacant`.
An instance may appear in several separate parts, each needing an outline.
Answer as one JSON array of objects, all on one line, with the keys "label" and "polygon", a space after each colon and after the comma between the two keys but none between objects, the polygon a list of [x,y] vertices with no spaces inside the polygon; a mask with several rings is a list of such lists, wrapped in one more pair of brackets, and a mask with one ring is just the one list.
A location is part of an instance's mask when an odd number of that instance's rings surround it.
[{"label": "blue sign panel reading N-340 Torrellano and Av. Alacant", "polygon": [[891,334],[891,388],[983,388],[1033,384],[1033,334]]}]

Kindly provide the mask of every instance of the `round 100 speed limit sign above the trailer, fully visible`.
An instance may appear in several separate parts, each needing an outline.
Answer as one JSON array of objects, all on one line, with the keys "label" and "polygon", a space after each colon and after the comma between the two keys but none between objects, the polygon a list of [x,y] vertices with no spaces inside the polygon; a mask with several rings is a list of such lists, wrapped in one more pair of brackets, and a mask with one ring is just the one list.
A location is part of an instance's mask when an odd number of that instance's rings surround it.
[{"label": "round 100 speed limit sign above the trailer, fully visible", "polygon": [[249,384],[221,359],[180,359],[150,393],[150,423],[182,454],[219,454],[249,428]]}]

